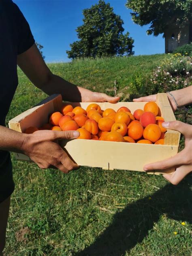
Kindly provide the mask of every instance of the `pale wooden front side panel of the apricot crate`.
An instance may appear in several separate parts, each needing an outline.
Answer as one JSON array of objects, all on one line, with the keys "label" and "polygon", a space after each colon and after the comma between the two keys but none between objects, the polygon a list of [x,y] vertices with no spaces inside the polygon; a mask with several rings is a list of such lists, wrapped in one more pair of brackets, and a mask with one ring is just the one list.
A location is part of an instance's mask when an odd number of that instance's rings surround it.
[{"label": "pale wooden front side panel of the apricot crate", "polygon": [[[105,169],[143,171],[143,166],[177,154],[177,147],[112,141],[61,141],[77,164]],[[166,170],[168,173],[175,169]],[[160,173],[164,173],[160,172]]]}]

